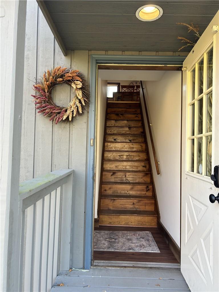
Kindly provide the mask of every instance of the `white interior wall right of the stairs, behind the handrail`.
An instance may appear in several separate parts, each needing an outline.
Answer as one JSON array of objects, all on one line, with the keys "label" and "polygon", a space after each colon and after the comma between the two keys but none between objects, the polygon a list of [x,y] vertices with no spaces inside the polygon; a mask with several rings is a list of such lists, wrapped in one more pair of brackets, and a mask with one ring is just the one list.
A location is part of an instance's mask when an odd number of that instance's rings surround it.
[{"label": "white interior wall right of the stairs, behind the handrail", "polygon": [[[181,72],[166,71],[160,81],[144,81],[144,84],[152,135],[160,161],[160,175],[157,175],[148,139],[161,223],[180,246]],[[145,126],[149,137],[147,124]]]}]

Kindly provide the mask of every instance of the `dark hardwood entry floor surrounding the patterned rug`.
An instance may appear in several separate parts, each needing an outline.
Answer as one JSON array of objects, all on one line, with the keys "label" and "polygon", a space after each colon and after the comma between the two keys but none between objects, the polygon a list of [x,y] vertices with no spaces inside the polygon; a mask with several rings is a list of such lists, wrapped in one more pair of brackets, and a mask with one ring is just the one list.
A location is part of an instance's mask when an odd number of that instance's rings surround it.
[{"label": "dark hardwood entry floor surrounding the patterned rug", "polygon": [[156,227],[126,227],[126,226],[99,226],[95,230],[121,231],[150,231],[160,253],[149,252],[120,252],[120,251],[93,251],[93,260],[150,262],[150,263],[179,263],[173,255],[164,237]]}]

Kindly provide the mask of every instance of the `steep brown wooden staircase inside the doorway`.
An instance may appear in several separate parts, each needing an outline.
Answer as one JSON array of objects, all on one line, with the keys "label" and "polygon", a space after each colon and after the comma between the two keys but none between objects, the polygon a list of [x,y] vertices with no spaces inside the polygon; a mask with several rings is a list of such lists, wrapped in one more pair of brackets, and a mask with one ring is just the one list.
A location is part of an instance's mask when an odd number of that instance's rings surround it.
[{"label": "steep brown wooden staircase inside the doorway", "polygon": [[139,102],[107,102],[99,225],[157,227]]}]

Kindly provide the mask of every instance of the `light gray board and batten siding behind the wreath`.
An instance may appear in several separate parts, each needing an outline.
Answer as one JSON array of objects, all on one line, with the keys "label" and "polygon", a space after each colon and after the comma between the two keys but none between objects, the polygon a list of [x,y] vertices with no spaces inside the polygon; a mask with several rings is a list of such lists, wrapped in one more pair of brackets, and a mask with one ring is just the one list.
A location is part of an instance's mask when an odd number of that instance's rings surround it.
[{"label": "light gray board and batten siding behind the wreath", "polygon": [[[88,111],[73,122],[53,124],[37,114],[31,94],[36,78],[53,66],[72,67],[85,74],[89,84],[90,55],[185,55],[176,52],[67,51],[63,56],[36,1],[27,1],[24,96],[20,181],[60,169],[74,169],[72,198],[72,258],[74,267],[83,266],[84,212],[86,197],[86,156]],[[68,105],[73,97],[65,84],[53,89],[57,105]]]}]

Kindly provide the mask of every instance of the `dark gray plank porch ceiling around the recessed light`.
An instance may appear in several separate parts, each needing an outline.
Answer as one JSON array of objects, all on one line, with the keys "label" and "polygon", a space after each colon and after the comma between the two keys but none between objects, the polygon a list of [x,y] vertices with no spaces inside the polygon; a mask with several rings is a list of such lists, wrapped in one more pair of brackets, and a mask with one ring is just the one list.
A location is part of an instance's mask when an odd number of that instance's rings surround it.
[{"label": "dark gray plank porch ceiling around the recessed light", "polygon": [[[65,49],[95,51],[178,51],[182,44],[177,36],[195,36],[176,22],[193,22],[202,33],[219,8],[218,0],[39,2],[44,2]],[[135,12],[145,4],[161,6],[161,18],[138,20]]]}]

